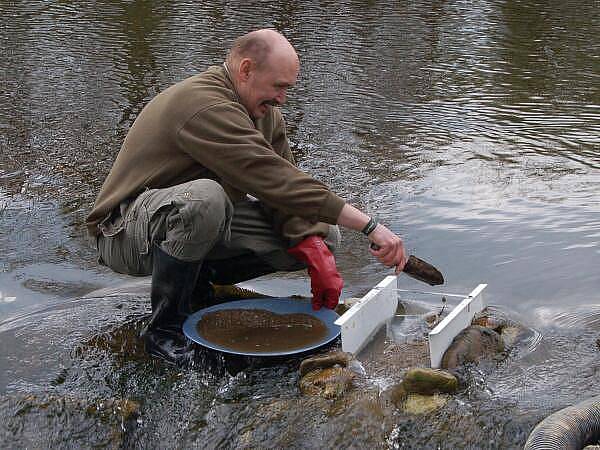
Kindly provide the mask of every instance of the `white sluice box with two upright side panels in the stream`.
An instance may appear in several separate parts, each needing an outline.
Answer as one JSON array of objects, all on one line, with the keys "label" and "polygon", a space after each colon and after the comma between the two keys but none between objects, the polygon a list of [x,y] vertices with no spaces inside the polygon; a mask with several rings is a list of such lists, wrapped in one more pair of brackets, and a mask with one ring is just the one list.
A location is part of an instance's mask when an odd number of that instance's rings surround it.
[{"label": "white sluice box with two upright side panels in the stream", "polygon": [[[379,328],[396,313],[398,308],[398,277],[388,276],[358,300],[335,321],[342,329],[342,350],[356,354],[360,352]],[[429,332],[429,356],[431,367],[438,368],[452,340],[471,324],[473,316],[486,307],[483,290],[487,284],[480,284]],[[410,291],[404,291],[410,292]],[[417,291],[415,291],[417,292]],[[443,292],[420,292],[425,294],[449,295]]]}]

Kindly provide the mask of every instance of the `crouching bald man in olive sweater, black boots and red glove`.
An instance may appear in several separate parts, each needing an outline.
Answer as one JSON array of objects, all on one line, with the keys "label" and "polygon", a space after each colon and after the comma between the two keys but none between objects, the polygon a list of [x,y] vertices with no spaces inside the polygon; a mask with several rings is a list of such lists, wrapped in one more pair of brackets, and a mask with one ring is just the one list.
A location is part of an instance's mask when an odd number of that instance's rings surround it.
[{"label": "crouching bald man in olive sweater, black boots and red glove", "polygon": [[211,281],[308,267],[313,307],[334,308],[336,224],[363,231],[383,264],[404,266],[398,236],[295,167],[275,106],[298,71],[285,37],[248,33],[223,66],[156,96],[129,130],[87,226],[101,263],[152,275],[149,353],[185,353],[181,326],[210,304]]}]

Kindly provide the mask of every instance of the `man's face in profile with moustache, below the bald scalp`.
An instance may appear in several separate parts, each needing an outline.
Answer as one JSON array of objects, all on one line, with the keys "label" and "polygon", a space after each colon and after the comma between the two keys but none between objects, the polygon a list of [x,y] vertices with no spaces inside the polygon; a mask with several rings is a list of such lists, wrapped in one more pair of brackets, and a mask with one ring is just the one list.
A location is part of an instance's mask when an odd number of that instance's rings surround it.
[{"label": "man's face in profile with moustache, below the bald scalp", "polygon": [[247,71],[240,99],[253,119],[259,119],[271,106],[285,103],[287,89],[296,83],[299,65],[297,60],[285,61],[269,58],[261,68],[251,65]]}]

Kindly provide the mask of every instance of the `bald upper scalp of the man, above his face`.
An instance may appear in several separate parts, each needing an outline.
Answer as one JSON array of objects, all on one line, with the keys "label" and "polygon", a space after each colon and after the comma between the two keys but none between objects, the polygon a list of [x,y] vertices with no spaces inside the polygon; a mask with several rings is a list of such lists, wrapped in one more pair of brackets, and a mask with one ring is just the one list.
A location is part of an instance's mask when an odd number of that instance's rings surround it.
[{"label": "bald upper scalp of the man, above his face", "polygon": [[256,69],[278,63],[298,64],[292,44],[280,33],[266,28],[251,31],[235,41],[227,53],[227,66],[236,72],[241,61],[249,59]]}]

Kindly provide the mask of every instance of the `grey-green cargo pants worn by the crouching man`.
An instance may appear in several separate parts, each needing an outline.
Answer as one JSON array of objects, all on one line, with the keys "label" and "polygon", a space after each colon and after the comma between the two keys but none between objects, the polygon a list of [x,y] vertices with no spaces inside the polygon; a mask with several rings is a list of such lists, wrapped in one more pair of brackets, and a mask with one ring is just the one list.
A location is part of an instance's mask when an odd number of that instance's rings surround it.
[{"label": "grey-green cargo pants worn by the crouching man", "polygon": [[[219,183],[193,180],[164,189],[149,189],[122,202],[99,225],[99,262],[115,272],[152,274],[152,245],[182,261],[211,261],[255,254],[273,271],[306,266],[287,253],[261,203],[233,204]],[[337,226],[329,226],[325,242],[335,251]]]}]

